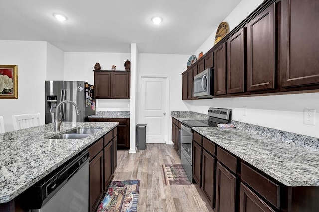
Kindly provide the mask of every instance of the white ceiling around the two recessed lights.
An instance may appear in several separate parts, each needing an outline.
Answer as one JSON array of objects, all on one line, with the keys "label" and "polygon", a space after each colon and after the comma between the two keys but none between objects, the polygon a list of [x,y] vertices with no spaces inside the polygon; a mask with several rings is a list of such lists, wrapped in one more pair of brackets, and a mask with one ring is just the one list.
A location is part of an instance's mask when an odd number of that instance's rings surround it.
[{"label": "white ceiling around the two recessed lights", "polygon": [[139,53],[192,54],[240,1],[0,0],[0,40],[47,41],[65,52],[129,53],[136,43]]}]

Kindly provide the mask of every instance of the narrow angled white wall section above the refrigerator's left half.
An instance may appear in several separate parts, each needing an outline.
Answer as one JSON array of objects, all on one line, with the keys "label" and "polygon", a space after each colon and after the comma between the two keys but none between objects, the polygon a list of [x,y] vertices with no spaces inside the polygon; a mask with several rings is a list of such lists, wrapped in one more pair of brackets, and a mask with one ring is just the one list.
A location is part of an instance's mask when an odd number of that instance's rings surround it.
[{"label": "narrow angled white wall section above the refrigerator's left half", "polygon": [[47,44],[46,80],[63,80],[64,52],[50,43]]}]

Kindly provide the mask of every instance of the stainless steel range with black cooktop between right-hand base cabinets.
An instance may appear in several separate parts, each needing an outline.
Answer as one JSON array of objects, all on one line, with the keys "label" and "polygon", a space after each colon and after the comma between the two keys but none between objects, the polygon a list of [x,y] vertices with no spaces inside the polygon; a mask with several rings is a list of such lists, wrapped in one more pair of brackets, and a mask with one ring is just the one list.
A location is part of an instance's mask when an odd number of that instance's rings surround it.
[{"label": "stainless steel range with black cooktop between right-hand base cabinets", "polygon": [[230,123],[231,109],[213,108],[208,109],[208,120],[185,120],[181,125],[181,164],[187,174],[190,182],[192,182],[192,127],[217,127],[220,123]]}]

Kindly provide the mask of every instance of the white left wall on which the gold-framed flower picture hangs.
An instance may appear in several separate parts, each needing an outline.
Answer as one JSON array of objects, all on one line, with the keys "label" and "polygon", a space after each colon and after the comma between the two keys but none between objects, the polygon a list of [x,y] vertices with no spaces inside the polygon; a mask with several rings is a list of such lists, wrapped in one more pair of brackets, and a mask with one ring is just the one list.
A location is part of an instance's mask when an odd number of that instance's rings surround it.
[{"label": "white left wall on which the gold-framed flower picture hangs", "polygon": [[0,64],[18,65],[18,99],[0,99],[5,131],[12,131],[12,115],[41,114],[44,124],[44,86],[47,42],[0,40]]}]

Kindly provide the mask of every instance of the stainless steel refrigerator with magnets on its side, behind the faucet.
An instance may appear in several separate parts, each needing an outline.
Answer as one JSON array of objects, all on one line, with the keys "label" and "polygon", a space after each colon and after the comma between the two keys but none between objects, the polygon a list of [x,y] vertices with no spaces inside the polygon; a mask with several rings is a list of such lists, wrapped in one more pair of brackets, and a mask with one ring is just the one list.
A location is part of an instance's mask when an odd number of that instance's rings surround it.
[{"label": "stainless steel refrigerator with magnets on its side, behind the faucet", "polygon": [[56,106],[63,100],[76,103],[81,114],[76,115],[72,104],[64,103],[59,108],[63,121],[85,121],[95,114],[94,86],[84,81],[45,81],[45,123],[55,121]]}]

